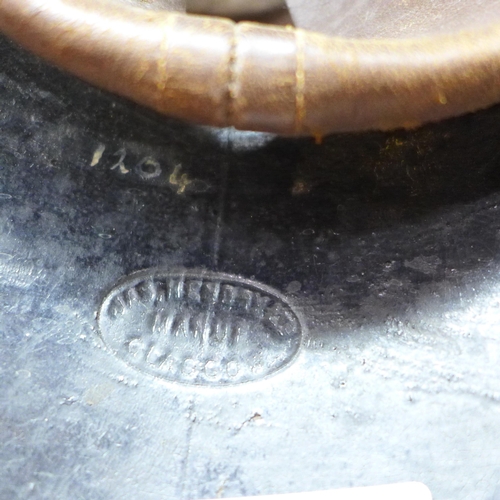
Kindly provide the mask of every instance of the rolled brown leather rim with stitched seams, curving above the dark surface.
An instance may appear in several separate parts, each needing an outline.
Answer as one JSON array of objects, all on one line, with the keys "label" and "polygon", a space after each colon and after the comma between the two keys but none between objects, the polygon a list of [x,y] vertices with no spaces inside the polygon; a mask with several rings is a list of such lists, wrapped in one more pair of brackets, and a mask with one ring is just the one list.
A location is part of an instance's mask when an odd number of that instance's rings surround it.
[{"label": "rolled brown leather rim with stitched seams, curving above the dark surface", "polygon": [[94,85],[195,123],[284,135],[412,128],[500,102],[500,23],[471,23],[360,40],[117,0],[0,0],[0,30]]}]

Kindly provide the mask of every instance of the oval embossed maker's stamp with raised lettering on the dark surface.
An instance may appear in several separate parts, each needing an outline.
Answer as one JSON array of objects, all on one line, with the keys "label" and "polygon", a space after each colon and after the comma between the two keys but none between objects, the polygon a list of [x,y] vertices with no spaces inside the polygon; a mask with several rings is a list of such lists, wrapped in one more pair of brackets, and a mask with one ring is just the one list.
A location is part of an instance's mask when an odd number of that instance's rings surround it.
[{"label": "oval embossed maker's stamp with raised lettering on the dark surface", "polygon": [[286,297],[237,276],[149,269],[104,299],[99,329],[129,365],[172,382],[232,385],[293,359],[303,325]]}]

